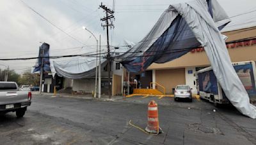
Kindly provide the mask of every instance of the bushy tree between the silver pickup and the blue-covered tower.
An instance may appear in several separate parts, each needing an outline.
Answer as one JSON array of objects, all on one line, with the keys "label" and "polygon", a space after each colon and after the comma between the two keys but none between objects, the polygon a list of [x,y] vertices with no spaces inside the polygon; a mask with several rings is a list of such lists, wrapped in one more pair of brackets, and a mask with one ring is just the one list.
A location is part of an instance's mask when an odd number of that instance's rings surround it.
[{"label": "bushy tree between the silver pickup and the blue-covered tower", "polygon": [[29,70],[24,72],[19,78],[19,85],[39,86],[40,76],[33,74]]}]

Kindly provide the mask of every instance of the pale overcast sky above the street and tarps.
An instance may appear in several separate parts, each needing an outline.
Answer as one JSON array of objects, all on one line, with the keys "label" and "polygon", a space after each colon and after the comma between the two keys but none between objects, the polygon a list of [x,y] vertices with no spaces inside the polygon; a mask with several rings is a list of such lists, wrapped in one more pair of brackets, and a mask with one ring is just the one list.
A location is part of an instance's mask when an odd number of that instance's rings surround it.
[{"label": "pale overcast sky above the street and tarps", "polygon": [[[93,32],[97,39],[101,35],[102,49],[106,50],[106,29],[101,26],[104,22],[100,21],[100,18],[106,14],[99,9],[99,5],[102,2],[113,8],[113,0],[22,1],[0,1],[1,59],[36,57],[42,42],[49,43],[51,56],[95,52],[96,41],[92,34],[82,28],[83,26]],[[115,20],[113,20],[115,27],[109,30],[111,49],[113,46],[124,46],[125,40],[138,43],[147,35],[168,5],[180,1],[182,0],[115,1]],[[218,2],[232,19],[223,31],[256,25],[255,0],[218,0]],[[48,21],[30,10],[28,6]],[[35,62],[36,60],[0,60],[0,68],[10,66],[10,69],[21,74],[31,69]]]}]

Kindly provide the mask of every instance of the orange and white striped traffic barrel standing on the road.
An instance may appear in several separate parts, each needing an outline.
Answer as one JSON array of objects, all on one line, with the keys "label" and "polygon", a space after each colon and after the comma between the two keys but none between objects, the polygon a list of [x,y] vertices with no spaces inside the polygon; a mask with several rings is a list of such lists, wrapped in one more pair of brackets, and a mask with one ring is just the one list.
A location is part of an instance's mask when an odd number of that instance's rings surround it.
[{"label": "orange and white striped traffic barrel standing on the road", "polygon": [[148,133],[159,134],[162,132],[159,127],[158,108],[154,100],[148,103],[148,126],[145,128]]}]

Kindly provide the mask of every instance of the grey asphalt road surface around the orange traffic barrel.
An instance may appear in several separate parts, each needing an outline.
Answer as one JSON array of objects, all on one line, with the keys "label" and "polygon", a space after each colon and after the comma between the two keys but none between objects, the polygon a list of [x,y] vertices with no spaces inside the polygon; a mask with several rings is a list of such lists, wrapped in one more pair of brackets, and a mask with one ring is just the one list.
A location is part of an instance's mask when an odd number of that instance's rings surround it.
[{"label": "grey asphalt road surface around the orange traffic barrel", "polygon": [[[148,135],[147,103],[159,104],[163,133]],[[256,144],[256,120],[233,107],[209,102],[174,102],[165,97],[131,97],[115,102],[34,96],[24,118],[0,118],[0,144]]]}]

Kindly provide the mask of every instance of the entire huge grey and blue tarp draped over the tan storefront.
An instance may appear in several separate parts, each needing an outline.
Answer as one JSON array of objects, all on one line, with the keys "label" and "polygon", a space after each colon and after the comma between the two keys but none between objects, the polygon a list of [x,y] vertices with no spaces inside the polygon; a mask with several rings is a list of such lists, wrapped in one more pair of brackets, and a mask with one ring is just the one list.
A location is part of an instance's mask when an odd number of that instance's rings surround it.
[{"label": "entire huge grey and blue tarp draped over the tan storefront", "polygon": [[229,22],[216,0],[194,0],[172,4],[147,36],[122,55],[129,71],[147,69],[153,62],[164,63],[202,45],[216,78],[230,102],[244,115],[256,118],[256,107],[238,78],[220,31]]}]

